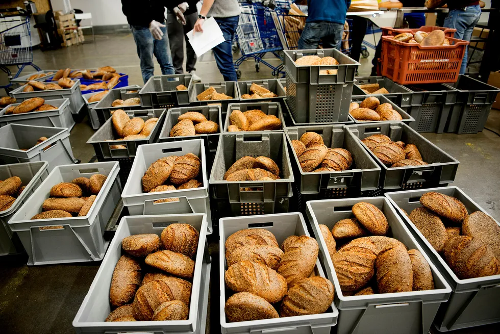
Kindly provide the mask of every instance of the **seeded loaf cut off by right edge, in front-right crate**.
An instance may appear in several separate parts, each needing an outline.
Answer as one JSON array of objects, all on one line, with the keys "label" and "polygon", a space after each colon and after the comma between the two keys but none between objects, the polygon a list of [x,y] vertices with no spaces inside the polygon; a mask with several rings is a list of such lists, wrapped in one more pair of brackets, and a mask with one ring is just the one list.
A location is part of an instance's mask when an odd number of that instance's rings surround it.
[{"label": "seeded loaf cut off by right edge, in front-right crate", "polygon": [[500,226],[487,214],[476,211],[465,217],[462,224],[464,236],[481,240],[495,258],[500,259]]}]

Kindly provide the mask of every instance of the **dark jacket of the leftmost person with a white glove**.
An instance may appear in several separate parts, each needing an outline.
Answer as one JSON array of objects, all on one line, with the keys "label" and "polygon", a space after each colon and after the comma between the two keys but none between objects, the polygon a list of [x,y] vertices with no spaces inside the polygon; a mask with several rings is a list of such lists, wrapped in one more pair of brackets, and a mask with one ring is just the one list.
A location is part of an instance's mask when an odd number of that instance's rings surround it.
[{"label": "dark jacket of the leftmost person with a white glove", "polygon": [[131,25],[149,27],[149,22],[165,21],[165,6],[169,1],[160,0],[121,0],[121,11]]}]

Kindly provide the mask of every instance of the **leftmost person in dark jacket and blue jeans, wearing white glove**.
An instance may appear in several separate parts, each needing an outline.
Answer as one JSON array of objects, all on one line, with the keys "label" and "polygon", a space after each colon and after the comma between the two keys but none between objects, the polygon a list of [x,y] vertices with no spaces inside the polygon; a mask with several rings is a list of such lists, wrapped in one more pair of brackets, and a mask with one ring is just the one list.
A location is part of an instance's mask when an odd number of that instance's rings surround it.
[{"label": "leftmost person in dark jacket and blue jeans, wearing white glove", "polygon": [[144,84],[154,75],[153,55],[160,64],[162,74],[174,74],[170,46],[165,27],[164,1],[121,0],[121,11],[127,16],[140,59]]}]

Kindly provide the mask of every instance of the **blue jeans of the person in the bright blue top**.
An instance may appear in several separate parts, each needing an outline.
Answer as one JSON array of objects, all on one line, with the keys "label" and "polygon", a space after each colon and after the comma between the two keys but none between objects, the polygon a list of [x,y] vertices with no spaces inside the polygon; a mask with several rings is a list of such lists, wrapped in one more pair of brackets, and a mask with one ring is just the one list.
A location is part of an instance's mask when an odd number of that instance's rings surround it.
[{"label": "blue jeans of the person in the bright blue top", "polygon": [[323,42],[325,49],[340,50],[344,25],[334,22],[307,22],[298,40],[299,50],[318,48],[319,41]]}]

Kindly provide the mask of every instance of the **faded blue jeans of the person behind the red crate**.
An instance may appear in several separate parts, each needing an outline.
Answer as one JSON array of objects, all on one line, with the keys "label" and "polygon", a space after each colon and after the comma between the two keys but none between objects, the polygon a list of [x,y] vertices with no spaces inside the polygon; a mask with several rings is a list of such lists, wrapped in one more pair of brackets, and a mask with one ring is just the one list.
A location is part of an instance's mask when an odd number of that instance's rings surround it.
[{"label": "faded blue jeans of the person behind the red crate", "polygon": [[[449,11],[448,16],[444,19],[444,27],[454,28],[457,30],[454,38],[463,39],[465,41],[470,41],[472,37],[472,31],[476,24],[478,24],[479,18],[481,17],[481,7],[468,6],[467,10],[452,10]],[[460,67],[460,74],[465,74],[465,69],[467,68],[467,54],[468,46],[465,47],[464,59],[462,60],[462,67]]]}]

